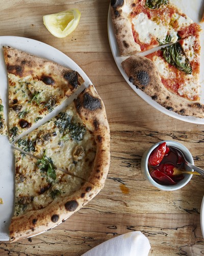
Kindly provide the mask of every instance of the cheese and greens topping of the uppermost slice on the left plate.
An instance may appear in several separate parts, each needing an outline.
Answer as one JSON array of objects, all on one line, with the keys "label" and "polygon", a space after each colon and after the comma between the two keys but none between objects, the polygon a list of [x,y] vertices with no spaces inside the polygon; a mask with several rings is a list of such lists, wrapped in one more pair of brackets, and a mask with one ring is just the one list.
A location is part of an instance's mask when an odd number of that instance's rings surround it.
[{"label": "cheese and greens topping of the uppermost slice on the left plate", "polygon": [[[47,113],[52,112],[66,99],[62,88],[47,85],[40,80],[27,76],[22,79],[8,74],[9,77],[9,131],[17,127],[19,135],[28,126],[21,127],[23,119],[31,126]],[[10,132],[10,138],[15,136]]]}]

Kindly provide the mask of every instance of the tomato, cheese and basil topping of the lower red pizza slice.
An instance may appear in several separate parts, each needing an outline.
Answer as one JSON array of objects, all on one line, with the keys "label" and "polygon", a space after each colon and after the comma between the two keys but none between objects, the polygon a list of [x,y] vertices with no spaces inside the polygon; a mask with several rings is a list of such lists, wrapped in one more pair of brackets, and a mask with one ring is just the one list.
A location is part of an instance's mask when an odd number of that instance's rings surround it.
[{"label": "tomato, cheese and basil topping of the lower red pizza slice", "polygon": [[169,91],[189,101],[200,101],[198,34],[161,48],[145,57],[155,63],[161,81]]}]

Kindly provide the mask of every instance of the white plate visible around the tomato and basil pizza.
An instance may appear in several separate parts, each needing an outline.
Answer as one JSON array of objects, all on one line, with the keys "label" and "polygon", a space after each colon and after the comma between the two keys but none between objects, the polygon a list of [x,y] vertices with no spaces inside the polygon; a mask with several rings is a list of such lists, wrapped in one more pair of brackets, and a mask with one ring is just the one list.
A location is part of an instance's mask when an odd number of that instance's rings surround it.
[{"label": "white plate visible around the tomato and basil pizza", "polygon": [[[194,20],[194,22],[199,23],[200,17],[202,15],[202,11],[204,11],[204,2],[202,0],[171,0],[173,4],[178,6],[183,10],[184,13],[186,13],[191,19]],[[203,31],[204,31],[204,24],[200,24]],[[142,92],[139,89],[136,89],[136,87],[129,81],[129,78],[127,77],[126,73],[124,72],[121,62],[126,59],[127,57],[121,57],[119,55],[118,47],[116,38],[114,35],[112,20],[111,20],[111,8],[109,8],[109,15],[108,15],[108,34],[109,34],[109,42],[111,51],[113,54],[113,57],[115,59],[115,62],[118,66],[118,69],[120,70],[122,76],[126,80],[126,82],[130,85],[130,87],[147,103],[149,103],[151,106],[154,106],[155,109],[165,113],[166,115],[169,115],[171,117],[191,122],[191,123],[197,123],[197,124],[204,124],[204,118],[196,118],[196,117],[188,117],[188,116],[182,116],[175,112],[171,112],[167,109],[165,109],[163,106],[158,104],[155,100],[152,100],[151,97],[147,96],[144,92]],[[200,45],[201,45],[201,57],[200,57],[200,70],[202,71],[204,69],[204,32],[200,36]],[[157,51],[161,47],[157,47],[155,49],[151,49],[149,51],[146,51],[144,53],[140,53],[140,55],[147,55],[148,53]],[[204,72],[200,72],[200,84],[202,87],[202,95],[201,95],[201,101],[204,103]]]}]

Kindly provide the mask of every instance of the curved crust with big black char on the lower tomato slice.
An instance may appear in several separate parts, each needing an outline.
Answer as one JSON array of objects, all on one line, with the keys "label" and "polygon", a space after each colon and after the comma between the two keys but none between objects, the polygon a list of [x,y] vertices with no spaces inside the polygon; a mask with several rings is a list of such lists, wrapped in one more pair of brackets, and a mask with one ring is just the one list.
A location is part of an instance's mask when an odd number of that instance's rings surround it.
[{"label": "curved crust with big black char on the lower tomato slice", "polygon": [[151,60],[143,56],[133,55],[121,63],[129,81],[157,101],[169,111],[183,116],[204,117],[204,105],[189,101],[168,91],[159,75],[159,71]]}]

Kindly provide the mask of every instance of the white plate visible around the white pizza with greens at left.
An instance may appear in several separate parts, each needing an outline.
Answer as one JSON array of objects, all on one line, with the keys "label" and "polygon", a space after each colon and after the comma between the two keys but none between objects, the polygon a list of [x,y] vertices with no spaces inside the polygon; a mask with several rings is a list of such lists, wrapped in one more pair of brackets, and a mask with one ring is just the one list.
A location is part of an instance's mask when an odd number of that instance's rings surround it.
[{"label": "white plate visible around the white pizza with greens at left", "polygon": [[[43,42],[24,37],[0,36],[0,48],[2,49],[3,46],[10,46],[31,53],[33,55],[55,61],[64,67],[78,71],[85,80],[85,87],[89,86],[89,84],[92,84],[88,76],[72,59],[54,47],[46,45]],[[3,51],[0,52],[0,78],[0,95],[2,96],[4,104],[5,118],[7,119],[8,81]],[[58,106],[58,108],[56,108],[56,110],[54,110],[52,113],[48,114],[44,119],[41,120],[42,122],[40,121],[37,125],[32,126],[28,132],[34,130],[36,126],[39,126],[49,118],[52,118],[54,115],[56,115],[61,109],[64,108],[65,105],[73,100],[73,98],[76,97],[77,94],[83,90],[83,88],[84,87],[80,88],[80,90],[72,95],[72,97],[67,99],[66,102]],[[0,197],[4,201],[4,204],[0,204],[0,241],[9,240],[8,228],[14,208],[14,173],[15,167],[12,145],[9,143],[7,137],[0,135]]]}]

